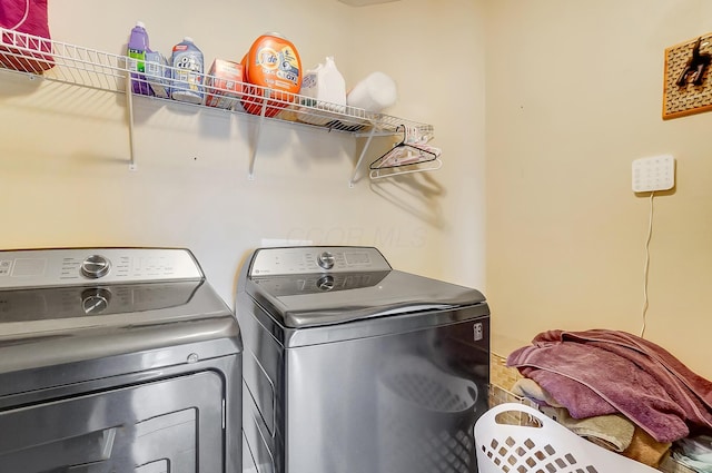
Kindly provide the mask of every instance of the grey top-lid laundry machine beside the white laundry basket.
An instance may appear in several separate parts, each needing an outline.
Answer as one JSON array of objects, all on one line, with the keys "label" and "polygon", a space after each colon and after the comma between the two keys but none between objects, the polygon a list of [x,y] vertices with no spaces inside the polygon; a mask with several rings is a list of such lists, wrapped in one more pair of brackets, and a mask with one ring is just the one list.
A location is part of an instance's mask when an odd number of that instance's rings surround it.
[{"label": "grey top-lid laundry machine beside the white laundry basket", "polygon": [[374,247],[259,248],[238,276],[244,471],[477,471],[490,308]]}]

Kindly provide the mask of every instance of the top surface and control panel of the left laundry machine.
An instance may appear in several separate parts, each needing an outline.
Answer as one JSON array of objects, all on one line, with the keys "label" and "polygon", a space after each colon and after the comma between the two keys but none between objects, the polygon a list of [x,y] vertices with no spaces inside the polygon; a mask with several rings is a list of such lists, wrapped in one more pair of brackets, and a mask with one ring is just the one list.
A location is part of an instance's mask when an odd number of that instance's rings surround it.
[{"label": "top surface and control panel of the left laundry machine", "polygon": [[0,374],[236,337],[233,319],[187,249],[0,252]]}]

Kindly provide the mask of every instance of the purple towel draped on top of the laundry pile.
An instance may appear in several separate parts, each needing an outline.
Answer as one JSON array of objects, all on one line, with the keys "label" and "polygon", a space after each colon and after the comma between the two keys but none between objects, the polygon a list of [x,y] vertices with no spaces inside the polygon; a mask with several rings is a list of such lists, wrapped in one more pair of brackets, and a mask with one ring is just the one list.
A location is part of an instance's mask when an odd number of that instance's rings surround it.
[{"label": "purple towel draped on top of the laundry pile", "polygon": [[574,418],[620,412],[657,442],[712,428],[712,382],[660,346],[625,332],[548,331],[507,366],[534,380]]}]

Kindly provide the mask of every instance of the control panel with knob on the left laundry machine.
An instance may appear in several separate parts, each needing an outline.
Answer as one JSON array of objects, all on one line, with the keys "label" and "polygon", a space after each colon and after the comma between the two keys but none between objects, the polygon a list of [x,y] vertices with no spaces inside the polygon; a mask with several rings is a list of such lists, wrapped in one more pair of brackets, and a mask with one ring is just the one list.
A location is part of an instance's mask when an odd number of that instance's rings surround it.
[{"label": "control panel with knob on the left laundry machine", "polygon": [[0,289],[200,280],[182,248],[56,248],[0,252]]}]

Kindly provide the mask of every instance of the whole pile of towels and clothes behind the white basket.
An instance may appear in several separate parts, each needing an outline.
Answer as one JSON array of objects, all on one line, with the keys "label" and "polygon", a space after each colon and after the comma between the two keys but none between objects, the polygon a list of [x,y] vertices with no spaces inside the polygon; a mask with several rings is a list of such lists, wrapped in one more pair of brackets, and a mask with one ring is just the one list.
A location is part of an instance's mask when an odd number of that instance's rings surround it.
[{"label": "whole pile of towels and clothes behind the white basket", "polygon": [[712,473],[712,450],[704,451],[712,447],[712,382],[654,343],[617,331],[548,331],[514,351],[507,366],[524,376],[514,394],[578,435],[653,467],[674,451]]}]

